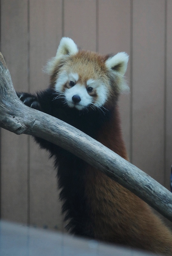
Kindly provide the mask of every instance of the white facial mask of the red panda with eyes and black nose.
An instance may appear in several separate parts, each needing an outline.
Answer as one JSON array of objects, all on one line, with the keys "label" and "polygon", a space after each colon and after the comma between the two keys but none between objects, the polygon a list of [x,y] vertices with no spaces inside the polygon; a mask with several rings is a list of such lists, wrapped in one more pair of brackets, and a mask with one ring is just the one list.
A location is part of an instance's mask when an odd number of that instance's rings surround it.
[{"label": "white facial mask of the red panda with eyes and black nose", "polygon": [[[62,76],[63,79],[61,79]],[[106,86],[100,79],[90,78],[81,83],[78,73],[60,74],[55,84],[55,91],[63,95],[69,107],[75,107],[78,110],[89,106],[99,108],[104,105],[108,96]]]}]

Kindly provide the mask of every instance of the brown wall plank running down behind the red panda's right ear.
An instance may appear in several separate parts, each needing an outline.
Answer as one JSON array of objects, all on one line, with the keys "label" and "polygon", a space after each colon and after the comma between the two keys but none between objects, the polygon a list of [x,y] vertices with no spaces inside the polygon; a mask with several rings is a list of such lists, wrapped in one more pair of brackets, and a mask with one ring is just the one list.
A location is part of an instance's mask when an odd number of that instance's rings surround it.
[{"label": "brown wall plank running down behind the red panda's right ear", "polygon": [[[98,51],[103,54],[127,52],[130,55],[130,0],[99,0],[98,3]],[[130,83],[130,63],[126,72]],[[130,154],[130,94],[119,99],[122,131]]]}]

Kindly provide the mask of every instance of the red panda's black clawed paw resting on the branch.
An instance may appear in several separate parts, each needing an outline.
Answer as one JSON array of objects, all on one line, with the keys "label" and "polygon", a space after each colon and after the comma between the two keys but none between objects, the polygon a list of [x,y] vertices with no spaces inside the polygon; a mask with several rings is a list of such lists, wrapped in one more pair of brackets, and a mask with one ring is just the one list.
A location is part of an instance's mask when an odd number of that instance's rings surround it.
[{"label": "red panda's black clawed paw resting on the branch", "polygon": [[23,103],[30,107],[41,111],[40,104],[36,96],[29,94],[27,92],[17,93],[18,98],[23,101]]}]

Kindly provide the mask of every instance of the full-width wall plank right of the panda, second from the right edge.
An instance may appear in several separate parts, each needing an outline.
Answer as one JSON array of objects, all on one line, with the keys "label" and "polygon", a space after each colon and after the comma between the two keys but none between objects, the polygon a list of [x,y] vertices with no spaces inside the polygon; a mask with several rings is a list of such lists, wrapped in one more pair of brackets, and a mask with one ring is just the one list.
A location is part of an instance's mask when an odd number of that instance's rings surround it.
[{"label": "full-width wall plank right of the panda, second from the right edge", "polygon": [[165,0],[133,0],[133,164],[164,184]]}]

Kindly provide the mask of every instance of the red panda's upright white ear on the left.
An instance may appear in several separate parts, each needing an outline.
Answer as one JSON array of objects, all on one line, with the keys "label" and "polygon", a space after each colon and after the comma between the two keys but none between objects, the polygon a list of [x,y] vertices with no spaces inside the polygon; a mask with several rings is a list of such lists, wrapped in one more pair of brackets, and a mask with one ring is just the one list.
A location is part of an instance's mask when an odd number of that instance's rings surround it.
[{"label": "red panda's upright white ear on the left", "polygon": [[56,59],[61,59],[67,55],[73,55],[78,52],[78,47],[71,38],[62,37],[56,53]]}]

